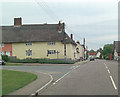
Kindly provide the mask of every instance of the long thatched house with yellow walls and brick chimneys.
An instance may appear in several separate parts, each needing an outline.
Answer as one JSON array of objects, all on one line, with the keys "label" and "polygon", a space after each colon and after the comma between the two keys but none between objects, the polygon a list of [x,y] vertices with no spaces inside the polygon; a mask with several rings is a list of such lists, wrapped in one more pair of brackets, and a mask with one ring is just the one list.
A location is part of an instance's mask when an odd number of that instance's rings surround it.
[{"label": "long thatched house with yellow walls and brick chimneys", "polygon": [[2,45],[4,48],[9,45],[10,56],[18,59],[77,58],[76,43],[66,34],[64,23],[22,25],[22,18],[14,18],[14,25],[1,29]]}]

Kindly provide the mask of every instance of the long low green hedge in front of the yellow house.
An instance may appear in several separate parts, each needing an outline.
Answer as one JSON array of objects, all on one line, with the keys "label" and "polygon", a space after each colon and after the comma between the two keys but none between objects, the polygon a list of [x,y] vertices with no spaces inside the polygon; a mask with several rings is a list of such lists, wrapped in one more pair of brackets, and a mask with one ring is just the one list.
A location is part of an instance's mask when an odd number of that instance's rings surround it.
[{"label": "long low green hedge in front of the yellow house", "polygon": [[72,60],[59,60],[59,59],[11,59],[9,62],[13,63],[47,63],[47,64],[74,64]]}]

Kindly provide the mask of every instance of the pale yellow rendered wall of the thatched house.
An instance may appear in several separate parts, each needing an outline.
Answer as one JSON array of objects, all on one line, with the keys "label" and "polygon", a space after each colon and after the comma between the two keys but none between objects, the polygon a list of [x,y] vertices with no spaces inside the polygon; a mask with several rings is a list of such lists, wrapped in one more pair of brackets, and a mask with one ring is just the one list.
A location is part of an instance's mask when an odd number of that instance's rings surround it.
[{"label": "pale yellow rendered wall of the thatched house", "polygon": [[[73,50],[72,44],[66,44],[66,58],[73,59]],[[56,42],[55,45],[48,45],[47,42],[32,42],[32,45],[27,45],[26,43],[13,43],[13,56],[16,56],[19,59],[25,58],[64,58],[64,44],[61,42]],[[26,56],[26,50],[31,49],[32,55]],[[56,50],[60,53],[58,54],[49,54],[47,56],[47,50]]]}]

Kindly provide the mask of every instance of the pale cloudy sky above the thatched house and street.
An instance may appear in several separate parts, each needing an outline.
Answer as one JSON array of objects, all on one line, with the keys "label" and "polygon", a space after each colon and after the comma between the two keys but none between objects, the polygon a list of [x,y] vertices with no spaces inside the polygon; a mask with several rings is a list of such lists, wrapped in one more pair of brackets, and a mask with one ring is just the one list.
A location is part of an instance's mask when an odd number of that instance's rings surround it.
[{"label": "pale cloudy sky above the thatched house and street", "polygon": [[74,40],[89,49],[98,49],[104,44],[118,40],[119,0],[3,0],[2,22],[13,25],[15,17],[22,17],[23,24],[65,22],[66,32]]}]

